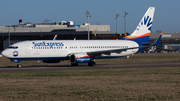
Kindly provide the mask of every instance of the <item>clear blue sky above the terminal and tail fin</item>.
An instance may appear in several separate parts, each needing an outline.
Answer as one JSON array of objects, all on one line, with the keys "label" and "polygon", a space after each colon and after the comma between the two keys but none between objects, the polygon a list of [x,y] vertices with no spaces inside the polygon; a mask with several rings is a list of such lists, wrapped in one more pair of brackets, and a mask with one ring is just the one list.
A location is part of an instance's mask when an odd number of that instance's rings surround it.
[{"label": "clear blue sky above the terminal and tail fin", "polygon": [[1,0],[0,26],[23,23],[75,21],[87,23],[85,12],[90,12],[90,24],[110,25],[118,33],[124,33],[124,12],[127,32],[132,33],[149,7],[155,7],[152,32],[180,33],[180,0]]}]

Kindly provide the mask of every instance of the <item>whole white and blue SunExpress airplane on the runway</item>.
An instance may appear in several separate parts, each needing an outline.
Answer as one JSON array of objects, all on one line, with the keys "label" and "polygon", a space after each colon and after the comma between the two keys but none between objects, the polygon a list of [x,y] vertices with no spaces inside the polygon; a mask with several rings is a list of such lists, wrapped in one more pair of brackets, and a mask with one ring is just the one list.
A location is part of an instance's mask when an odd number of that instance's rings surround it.
[{"label": "whole white and blue SunExpress airplane on the runway", "polygon": [[[155,46],[149,41],[155,7],[149,7],[134,32],[118,40],[34,40],[17,42],[2,51],[2,55],[12,62],[42,60],[44,63],[59,63],[70,60],[72,66],[79,63],[95,65],[95,59],[117,58],[140,53],[143,49]],[[21,68],[20,64],[17,64]]]}]

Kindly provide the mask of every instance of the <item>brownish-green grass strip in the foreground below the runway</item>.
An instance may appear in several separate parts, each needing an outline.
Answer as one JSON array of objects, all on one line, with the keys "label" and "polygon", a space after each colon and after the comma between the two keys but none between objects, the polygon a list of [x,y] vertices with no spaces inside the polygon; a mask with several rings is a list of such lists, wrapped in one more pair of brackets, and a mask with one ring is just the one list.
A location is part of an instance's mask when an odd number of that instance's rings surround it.
[{"label": "brownish-green grass strip in the foreground below the runway", "polygon": [[180,100],[180,67],[0,74],[0,100]]}]

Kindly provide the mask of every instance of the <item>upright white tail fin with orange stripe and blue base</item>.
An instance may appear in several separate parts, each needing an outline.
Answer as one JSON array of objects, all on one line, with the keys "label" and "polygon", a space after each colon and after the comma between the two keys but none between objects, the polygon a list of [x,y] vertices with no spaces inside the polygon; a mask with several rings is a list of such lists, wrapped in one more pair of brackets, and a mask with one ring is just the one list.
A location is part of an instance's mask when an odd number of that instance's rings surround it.
[{"label": "upright white tail fin with orange stripe and blue base", "polygon": [[124,37],[123,40],[148,42],[154,17],[154,11],[155,7],[149,7],[134,32],[131,35]]}]

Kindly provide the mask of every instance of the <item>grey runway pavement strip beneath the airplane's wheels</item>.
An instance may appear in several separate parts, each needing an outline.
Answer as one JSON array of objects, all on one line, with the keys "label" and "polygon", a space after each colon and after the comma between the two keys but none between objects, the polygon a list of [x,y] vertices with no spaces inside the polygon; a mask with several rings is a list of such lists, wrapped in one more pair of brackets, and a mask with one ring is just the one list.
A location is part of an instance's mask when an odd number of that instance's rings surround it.
[{"label": "grey runway pavement strip beneath the airplane's wheels", "polygon": [[98,64],[95,66],[87,66],[86,64],[79,66],[60,65],[48,67],[2,67],[0,73],[8,72],[39,72],[39,71],[62,71],[62,70],[95,70],[95,69],[128,69],[128,68],[157,68],[157,67],[180,67],[180,62],[171,63],[130,63],[130,64]]}]

